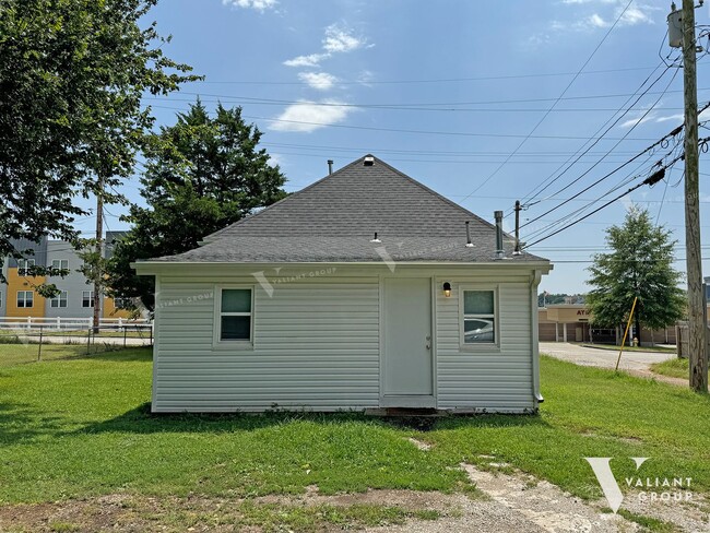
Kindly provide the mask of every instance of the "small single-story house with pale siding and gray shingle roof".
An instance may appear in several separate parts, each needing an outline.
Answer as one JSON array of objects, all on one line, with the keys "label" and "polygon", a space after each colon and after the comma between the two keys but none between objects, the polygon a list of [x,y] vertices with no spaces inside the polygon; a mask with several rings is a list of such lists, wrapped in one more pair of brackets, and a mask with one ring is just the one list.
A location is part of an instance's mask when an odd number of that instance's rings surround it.
[{"label": "small single-story house with pale siding and gray shingle roof", "polygon": [[367,155],[134,264],[156,280],[154,412],[536,410],[549,261]]}]

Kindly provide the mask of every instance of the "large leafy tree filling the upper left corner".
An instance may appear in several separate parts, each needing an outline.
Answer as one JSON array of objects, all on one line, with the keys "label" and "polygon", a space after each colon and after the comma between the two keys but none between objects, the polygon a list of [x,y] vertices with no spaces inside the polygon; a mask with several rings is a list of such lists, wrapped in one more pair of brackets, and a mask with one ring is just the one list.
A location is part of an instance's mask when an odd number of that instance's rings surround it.
[{"label": "large leafy tree filling the upper left corner", "polygon": [[153,126],[141,98],[196,78],[146,24],[156,2],[0,0],[0,265],[24,251],[11,239],[73,241],[76,198],[115,200],[132,173]]}]

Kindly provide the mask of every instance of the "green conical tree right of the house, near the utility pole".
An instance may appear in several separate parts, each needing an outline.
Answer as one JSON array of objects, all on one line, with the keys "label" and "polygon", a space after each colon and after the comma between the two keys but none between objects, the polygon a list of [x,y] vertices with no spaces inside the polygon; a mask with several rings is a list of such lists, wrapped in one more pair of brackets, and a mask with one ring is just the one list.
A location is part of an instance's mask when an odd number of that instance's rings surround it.
[{"label": "green conical tree right of the house, near the utility pole", "polygon": [[678,287],[683,274],[673,269],[671,232],[651,222],[648,211],[631,206],[624,224],[606,230],[608,253],[594,256],[587,295],[593,323],[614,328],[628,320],[634,298],[637,334],[656,330],[683,317],[687,301]]}]

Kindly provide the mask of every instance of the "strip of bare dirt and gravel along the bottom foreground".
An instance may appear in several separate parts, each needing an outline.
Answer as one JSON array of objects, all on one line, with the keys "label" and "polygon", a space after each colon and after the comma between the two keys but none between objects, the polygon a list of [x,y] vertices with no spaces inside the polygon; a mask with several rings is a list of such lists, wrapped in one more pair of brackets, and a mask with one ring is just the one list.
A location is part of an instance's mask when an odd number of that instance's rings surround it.
[{"label": "strip of bare dirt and gravel along the bottom foreground", "polygon": [[[486,459],[495,463],[493,455]],[[413,490],[322,495],[316,485],[306,487],[300,495],[271,495],[246,500],[115,494],[54,504],[3,506],[0,507],[0,531],[260,532],[308,529],[328,532],[363,528],[371,533],[634,533],[647,531],[637,523],[644,517],[673,524],[675,531],[710,531],[710,505],[700,495],[693,495],[691,500],[683,502],[649,502],[639,497],[639,493],[627,494],[622,506],[629,511],[625,518],[611,513],[604,499],[584,501],[520,472],[484,472],[470,464],[461,467],[484,497],[475,497],[474,493]],[[386,520],[383,523],[387,525],[381,526],[365,528],[357,520],[331,523],[319,521],[318,517],[315,528],[313,522],[308,528],[299,525],[299,522],[295,525],[287,522],[287,514],[294,509],[297,512],[316,510],[318,516],[323,506],[342,509],[344,516],[348,509],[368,506],[387,506],[406,512],[401,514],[403,520]],[[285,525],[281,522],[282,516],[286,517],[283,518]],[[425,516],[429,518],[424,519]]]}]

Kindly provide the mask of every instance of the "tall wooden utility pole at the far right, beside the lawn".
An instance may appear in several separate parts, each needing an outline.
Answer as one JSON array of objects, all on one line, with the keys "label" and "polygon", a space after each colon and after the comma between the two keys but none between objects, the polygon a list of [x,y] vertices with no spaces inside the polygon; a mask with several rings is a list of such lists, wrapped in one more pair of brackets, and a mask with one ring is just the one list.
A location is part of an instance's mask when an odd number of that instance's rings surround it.
[{"label": "tall wooden utility pole at the far right, beside the lawn", "polygon": [[708,392],[707,323],[702,308],[698,161],[698,88],[696,79],[695,2],[683,0],[685,97],[685,248],[688,276],[688,348],[690,388]]}]

